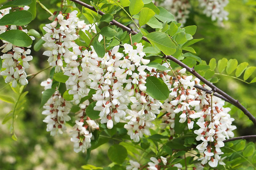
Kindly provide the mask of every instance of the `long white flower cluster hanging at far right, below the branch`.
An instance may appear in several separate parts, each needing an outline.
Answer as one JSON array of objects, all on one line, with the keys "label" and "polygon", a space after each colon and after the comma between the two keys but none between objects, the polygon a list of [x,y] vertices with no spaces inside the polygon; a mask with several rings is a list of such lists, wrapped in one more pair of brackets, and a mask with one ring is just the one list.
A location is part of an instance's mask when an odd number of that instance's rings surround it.
[{"label": "long white flower cluster hanging at far right, below the branch", "polygon": [[231,124],[235,119],[228,114],[230,108],[223,107],[223,100],[205,92],[201,93],[198,98],[203,97],[200,103],[203,109],[200,109],[201,116],[196,122],[200,129],[194,130],[194,133],[198,135],[197,141],[203,141],[196,148],[200,153],[204,153],[204,157],[198,160],[202,160],[203,165],[209,161],[211,167],[216,167],[218,161],[223,165],[223,158],[220,156],[223,152],[220,148],[224,146],[224,140],[234,137],[232,130],[236,129],[236,126]]}]

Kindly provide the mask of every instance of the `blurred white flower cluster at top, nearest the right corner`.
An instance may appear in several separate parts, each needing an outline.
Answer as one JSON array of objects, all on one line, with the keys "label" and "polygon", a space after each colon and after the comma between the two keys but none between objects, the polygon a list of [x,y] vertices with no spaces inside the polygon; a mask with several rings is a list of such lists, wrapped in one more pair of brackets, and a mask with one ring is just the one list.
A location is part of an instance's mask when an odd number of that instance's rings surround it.
[{"label": "blurred white flower cluster at top, nearest the right corner", "polygon": [[213,21],[217,20],[221,23],[223,20],[228,20],[228,12],[224,10],[228,0],[198,0],[198,2],[203,8],[203,13]]}]

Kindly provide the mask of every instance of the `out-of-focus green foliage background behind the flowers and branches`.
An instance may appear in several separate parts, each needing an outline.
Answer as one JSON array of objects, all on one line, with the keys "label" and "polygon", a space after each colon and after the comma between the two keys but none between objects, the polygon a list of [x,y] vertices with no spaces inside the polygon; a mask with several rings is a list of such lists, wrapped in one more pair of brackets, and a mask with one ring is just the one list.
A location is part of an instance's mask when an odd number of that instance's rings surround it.
[{"label": "out-of-focus green foliage background behind the flowers and branches", "polygon": [[[0,4],[5,2],[6,0],[0,0]],[[52,12],[60,10],[60,0],[41,0],[41,3]],[[28,25],[27,29],[33,28],[41,33],[39,25],[49,23],[47,18],[50,15],[38,4],[36,7],[37,17]],[[197,55],[207,63],[211,58],[218,61],[225,57],[228,60],[236,58],[238,64],[248,62],[249,66],[256,66],[255,6],[247,1],[230,0],[225,9],[229,12],[229,19],[224,21],[222,26],[218,26],[210,18],[202,15],[199,9],[192,8],[186,25],[197,26],[194,38],[204,38],[203,41],[192,47],[195,48]],[[115,17],[118,15],[116,14]],[[42,55],[43,52],[43,48],[38,52],[32,50],[33,62],[30,62],[31,67],[27,71],[28,74],[35,73],[48,66],[47,57]],[[29,93],[26,99],[27,102],[24,104],[25,111],[19,113],[15,122],[18,141],[16,142],[11,138],[11,121],[0,125],[1,170],[76,170],[81,169],[81,166],[84,165],[85,153],[75,153],[73,151],[73,143],[70,142],[68,135],[51,137],[50,133],[46,132],[46,124],[43,122],[44,115],[41,114],[43,109],[39,109],[41,92],[43,91],[40,83],[49,77],[49,71],[37,75],[26,87],[26,91],[29,91]],[[255,72],[252,77],[255,77]],[[256,84],[248,85],[239,80],[222,76],[218,76],[218,78],[220,78],[220,82],[216,85],[238,99],[256,116]],[[251,80],[249,79],[249,81]],[[3,87],[4,85],[4,79],[1,77],[0,86]],[[15,96],[10,87],[0,91],[0,94]],[[10,112],[13,106],[0,101],[0,107],[2,108],[0,122],[2,122],[4,115]],[[230,115],[235,118],[234,124],[237,126],[236,136],[255,134],[256,130],[249,119],[235,107],[231,108]],[[67,131],[70,129],[71,127],[68,127]],[[110,144],[104,144],[97,150],[93,150],[88,163],[95,166],[110,164],[111,161],[107,157],[107,149]]]}]

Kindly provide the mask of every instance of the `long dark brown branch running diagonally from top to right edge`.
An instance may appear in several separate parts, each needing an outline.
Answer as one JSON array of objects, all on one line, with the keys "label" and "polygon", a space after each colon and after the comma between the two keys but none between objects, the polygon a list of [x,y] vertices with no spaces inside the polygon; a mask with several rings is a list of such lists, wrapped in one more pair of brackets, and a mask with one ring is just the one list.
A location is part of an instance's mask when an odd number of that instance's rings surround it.
[{"label": "long dark brown branch running diagonally from top to right edge", "polygon": [[[105,13],[102,12],[102,11],[97,11],[93,6],[91,5],[88,5],[82,1],[79,1],[79,0],[70,0],[70,1],[73,1],[77,4],[80,4],[92,11],[95,11],[95,12],[98,12],[100,15],[104,15]],[[124,26],[123,24],[117,22],[116,20],[112,20],[110,21],[110,24],[111,25],[115,25],[115,26],[118,26],[120,28],[122,28],[123,30],[129,32],[129,33],[132,33],[133,35],[137,34],[136,31],[133,31],[131,28],[127,27],[127,26]],[[147,42],[148,39],[143,36],[142,37],[142,40],[145,40]],[[150,42],[149,42],[150,43]],[[223,92],[222,90],[220,90],[218,87],[216,87],[215,85],[213,85],[211,82],[207,81],[204,77],[202,77],[200,74],[198,74],[194,68],[190,68],[188,67],[186,64],[182,63],[180,60],[178,60],[177,58],[173,57],[172,55],[167,55],[165,56],[166,59],[169,59],[169,60],[172,60],[173,62],[179,64],[181,67],[183,68],[186,68],[186,70],[188,70],[190,73],[192,73],[194,76],[196,76],[197,78],[199,78],[202,82],[204,82],[206,85],[208,85],[209,87],[212,88],[212,92],[217,92],[219,93],[219,95],[221,95],[222,97],[224,97],[226,100],[225,101],[228,101],[230,102],[231,104],[233,104],[234,106],[236,106],[237,108],[239,108],[240,110],[242,110],[244,112],[244,114],[254,123],[254,125],[256,126],[256,118],[243,106],[241,105],[241,103],[239,103],[238,100],[232,98],[231,96],[229,96],[227,93]],[[202,90],[202,89],[201,89]],[[223,98],[221,98],[223,99]],[[224,100],[224,99],[223,99]]]}]

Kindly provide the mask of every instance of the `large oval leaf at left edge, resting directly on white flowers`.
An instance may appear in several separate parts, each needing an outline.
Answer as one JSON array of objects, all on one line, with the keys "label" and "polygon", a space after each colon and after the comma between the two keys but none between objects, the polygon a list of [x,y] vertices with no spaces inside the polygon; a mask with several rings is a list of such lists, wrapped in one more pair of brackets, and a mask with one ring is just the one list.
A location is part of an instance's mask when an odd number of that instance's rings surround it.
[{"label": "large oval leaf at left edge, resting directly on white flowers", "polygon": [[28,47],[32,44],[32,39],[21,30],[9,30],[0,34],[0,39],[8,41],[19,47]]}]

